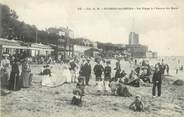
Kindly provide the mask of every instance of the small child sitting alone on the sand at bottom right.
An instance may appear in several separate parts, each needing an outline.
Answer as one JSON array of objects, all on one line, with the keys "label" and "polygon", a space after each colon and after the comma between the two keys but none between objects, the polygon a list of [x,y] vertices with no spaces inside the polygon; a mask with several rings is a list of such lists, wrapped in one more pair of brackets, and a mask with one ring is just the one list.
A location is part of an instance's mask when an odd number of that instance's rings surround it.
[{"label": "small child sitting alone on the sand at bottom right", "polygon": [[140,96],[136,96],[135,100],[130,104],[129,109],[137,112],[142,112],[144,111],[144,103],[141,100]]}]

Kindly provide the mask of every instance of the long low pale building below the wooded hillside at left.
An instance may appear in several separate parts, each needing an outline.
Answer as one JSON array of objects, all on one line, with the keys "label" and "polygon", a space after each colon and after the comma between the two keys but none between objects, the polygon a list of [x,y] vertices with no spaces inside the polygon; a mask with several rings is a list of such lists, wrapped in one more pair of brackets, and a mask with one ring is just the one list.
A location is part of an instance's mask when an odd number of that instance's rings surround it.
[{"label": "long low pale building below the wooded hillside at left", "polygon": [[38,43],[24,43],[18,40],[8,40],[0,38],[0,60],[2,55],[7,53],[9,55],[14,55],[16,52],[25,52],[29,56],[49,56],[54,51],[51,46],[38,44]]}]

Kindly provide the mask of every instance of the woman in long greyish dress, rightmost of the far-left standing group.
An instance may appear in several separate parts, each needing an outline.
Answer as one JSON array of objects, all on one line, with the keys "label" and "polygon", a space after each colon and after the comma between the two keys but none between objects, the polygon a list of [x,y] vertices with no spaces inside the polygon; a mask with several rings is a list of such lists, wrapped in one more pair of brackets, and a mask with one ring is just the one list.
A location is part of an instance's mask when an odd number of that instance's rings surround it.
[{"label": "woman in long greyish dress, rightmost of the far-left standing group", "polygon": [[22,64],[22,73],[21,73],[21,78],[22,78],[22,87],[28,88],[31,85],[31,67],[30,64],[28,63],[28,58],[25,58],[23,64]]}]

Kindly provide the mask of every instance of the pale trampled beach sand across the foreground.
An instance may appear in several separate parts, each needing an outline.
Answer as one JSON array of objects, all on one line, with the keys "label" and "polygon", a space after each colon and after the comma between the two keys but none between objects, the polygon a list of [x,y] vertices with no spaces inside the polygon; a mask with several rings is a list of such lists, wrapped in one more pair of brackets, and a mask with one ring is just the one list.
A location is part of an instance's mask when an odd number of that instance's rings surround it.
[{"label": "pale trampled beach sand across the foreground", "polygon": [[[83,106],[71,105],[75,84],[64,84],[55,88],[42,87],[41,66],[32,65],[34,78],[30,88],[0,96],[2,117],[183,117],[184,86],[172,83],[182,75],[165,76],[162,96],[152,98],[152,86],[129,87],[133,97],[96,95],[94,76],[91,86],[86,86]],[[145,112],[133,112],[128,106],[135,95],[142,96]]]}]

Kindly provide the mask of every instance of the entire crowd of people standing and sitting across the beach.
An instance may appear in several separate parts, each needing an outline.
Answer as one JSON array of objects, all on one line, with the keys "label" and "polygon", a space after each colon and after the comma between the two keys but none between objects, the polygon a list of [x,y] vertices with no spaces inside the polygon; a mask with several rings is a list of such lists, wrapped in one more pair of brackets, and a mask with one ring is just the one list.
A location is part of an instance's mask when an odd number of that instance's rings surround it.
[{"label": "entire crowd of people standing and sitting across the beach", "polygon": [[[9,58],[9,59],[8,59]],[[154,66],[149,64],[149,61],[131,60],[131,72],[128,74],[125,69],[122,69],[121,59],[117,59],[113,68],[110,59],[103,58],[71,58],[64,59],[54,68],[52,58],[43,64],[40,75],[43,77],[42,85],[56,86],[56,83],[75,83],[76,87],[73,90],[73,105],[82,106],[82,97],[85,95],[85,87],[91,86],[92,77],[95,79],[95,87],[98,95],[114,95],[129,97],[132,96],[128,86],[140,87],[152,84],[152,96],[161,96],[161,85],[163,75],[169,74],[169,65],[164,63],[156,63]],[[91,63],[95,62],[95,65]],[[56,64],[56,63],[54,63]],[[62,68],[61,68],[62,66]],[[181,69],[181,68],[180,68]],[[3,60],[0,66],[1,87],[18,91],[21,88],[29,88],[33,74],[28,57],[19,58],[17,55],[9,57],[8,54],[3,54]],[[56,76],[58,71],[58,76]],[[178,71],[176,71],[178,72]],[[115,74],[113,74],[115,73]],[[113,74],[113,75],[112,75]],[[55,77],[56,79],[53,80]],[[47,80],[46,80],[47,79]],[[49,80],[48,80],[49,79]],[[59,80],[58,80],[59,79]],[[57,84],[58,86],[59,84]],[[156,90],[157,89],[157,90]],[[141,101],[141,96],[136,96],[135,101],[130,104],[130,109],[134,111],[143,111],[144,103]]]}]

